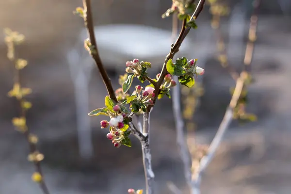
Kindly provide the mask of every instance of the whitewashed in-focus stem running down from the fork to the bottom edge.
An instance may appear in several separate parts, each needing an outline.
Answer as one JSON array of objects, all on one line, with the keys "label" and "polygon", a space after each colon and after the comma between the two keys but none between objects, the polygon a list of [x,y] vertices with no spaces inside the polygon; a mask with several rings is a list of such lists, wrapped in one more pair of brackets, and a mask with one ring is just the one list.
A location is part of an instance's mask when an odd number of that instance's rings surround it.
[{"label": "whitewashed in-focus stem running down from the fork to the bottom edge", "polygon": [[144,114],[144,126],[143,133],[147,136],[146,141],[142,141],[142,151],[143,151],[143,163],[145,170],[145,178],[146,178],[146,194],[154,193],[154,178],[155,174],[152,170],[151,165],[151,154],[149,148],[149,115],[150,112],[145,112]]}]

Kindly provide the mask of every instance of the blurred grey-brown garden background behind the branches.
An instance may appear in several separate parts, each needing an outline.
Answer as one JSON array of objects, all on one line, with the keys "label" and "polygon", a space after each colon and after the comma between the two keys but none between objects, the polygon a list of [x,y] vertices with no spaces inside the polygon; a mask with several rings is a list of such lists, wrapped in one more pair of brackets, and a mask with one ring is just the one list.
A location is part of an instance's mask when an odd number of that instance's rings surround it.
[{"label": "blurred grey-brown garden background behind the branches", "polygon": [[[229,16],[221,20],[229,63],[240,70],[252,13],[252,0],[226,0]],[[150,76],[161,70],[170,49],[172,19],[161,15],[171,0],[93,0],[94,23],[101,59],[117,89],[125,62],[133,58],[152,63]],[[27,122],[38,135],[38,148],[51,194],[126,194],[144,189],[140,143],[116,149],[100,129],[100,120],[87,113],[104,106],[106,90],[96,66],[83,49],[83,21],[73,15],[81,0],[0,0],[0,29],[26,36],[17,55],[29,64],[22,83],[32,88]],[[216,157],[202,178],[203,194],[290,194],[291,192],[291,1],[264,0],[258,10],[247,111],[257,122],[232,122]],[[197,58],[206,73],[197,79],[199,98],[188,127],[190,145],[209,144],[235,85],[217,61],[216,38],[209,6],[197,19],[178,56]],[[0,33],[0,194],[40,194],[31,180],[28,145],[11,119],[17,103],[8,98],[13,65]],[[138,83],[138,82],[136,82]],[[185,96],[182,96],[185,100]],[[151,113],[151,151],[159,194],[171,194],[173,182],[187,194],[183,166],[176,146],[171,99],[158,101]],[[194,109],[195,105],[193,105]]]}]

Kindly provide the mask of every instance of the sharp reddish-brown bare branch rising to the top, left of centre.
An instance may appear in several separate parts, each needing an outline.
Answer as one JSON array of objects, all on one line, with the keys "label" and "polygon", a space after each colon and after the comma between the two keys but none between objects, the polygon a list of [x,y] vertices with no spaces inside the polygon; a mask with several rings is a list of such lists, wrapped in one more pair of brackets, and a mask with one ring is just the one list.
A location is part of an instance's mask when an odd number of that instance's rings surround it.
[{"label": "sharp reddish-brown bare branch rising to the top, left of centre", "polygon": [[91,56],[94,59],[99,69],[99,72],[106,86],[109,97],[115,102],[118,102],[113,90],[113,86],[111,84],[111,80],[102,64],[101,58],[98,53],[98,48],[97,48],[97,43],[96,43],[96,38],[95,38],[95,33],[94,33],[93,16],[92,16],[92,11],[91,11],[91,0],[83,0],[83,7],[84,7],[83,18],[84,18],[85,27],[87,29],[87,33],[90,38],[91,45],[94,49],[93,52],[90,52]]}]

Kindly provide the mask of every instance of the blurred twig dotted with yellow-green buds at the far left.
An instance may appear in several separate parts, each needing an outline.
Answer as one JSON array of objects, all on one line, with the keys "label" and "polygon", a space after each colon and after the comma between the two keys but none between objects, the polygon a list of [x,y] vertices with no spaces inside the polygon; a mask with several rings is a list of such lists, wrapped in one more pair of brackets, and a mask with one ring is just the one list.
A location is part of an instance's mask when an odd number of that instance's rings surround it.
[{"label": "blurred twig dotted with yellow-green buds at the far left", "polygon": [[32,174],[32,180],[38,182],[40,188],[44,194],[49,194],[48,187],[44,180],[40,162],[43,160],[44,155],[41,154],[37,148],[36,143],[38,138],[36,135],[30,132],[30,129],[26,125],[26,112],[31,108],[32,104],[25,100],[25,96],[31,93],[30,88],[21,87],[20,69],[23,69],[27,65],[27,61],[23,59],[17,59],[15,45],[24,41],[24,35],[18,32],[12,32],[10,29],[4,30],[6,33],[5,42],[8,47],[7,57],[14,64],[14,87],[8,93],[9,97],[16,97],[19,103],[20,116],[13,118],[12,122],[16,129],[23,132],[25,139],[29,144],[30,154],[28,160],[33,162],[35,172]]}]

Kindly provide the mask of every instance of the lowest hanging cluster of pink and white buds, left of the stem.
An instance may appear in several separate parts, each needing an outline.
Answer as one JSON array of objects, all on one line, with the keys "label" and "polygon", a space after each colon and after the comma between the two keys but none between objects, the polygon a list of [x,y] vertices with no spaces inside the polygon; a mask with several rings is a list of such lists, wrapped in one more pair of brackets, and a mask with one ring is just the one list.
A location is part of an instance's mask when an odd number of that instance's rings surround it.
[{"label": "lowest hanging cluster of pink and white buds, left of the stem", "polygon": [[126,113],[121,113],[120,106],[117,104],[113,107],[113,111],[116,112],[112,115],[110,121],[103,120],[100,122],[101,128],[110,127],[110,132],[106,135],[109,140],[112,141],[115,147],[121,146],[121,141],[124,139],[124,132],[122,128],[125,127],[124,118]]}]

